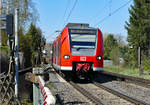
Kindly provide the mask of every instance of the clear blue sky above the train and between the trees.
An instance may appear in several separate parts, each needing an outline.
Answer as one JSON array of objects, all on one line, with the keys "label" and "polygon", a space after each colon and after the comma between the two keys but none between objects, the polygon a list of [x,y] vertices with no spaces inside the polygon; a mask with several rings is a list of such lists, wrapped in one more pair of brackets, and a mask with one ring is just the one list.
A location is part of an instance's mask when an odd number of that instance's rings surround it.
[{"label": "clear blue sky above the train and between the trees", "polygon": [[119,9],[103,22],[99,21],[128,1],[129,0],[77,0],[77,4],[68,21],[66,21],[66,18],[75,0],[35,0],[34,2],[39,13],[38,26],[42,29],[43,35],[49,43],[57,36],[58,33],[55,33],[55,31],[62,30],[64,25],[68,22],[89,23],[91,27],[99,27],[103,34],[121,34],[125,40],[127,31],[124,25],[125,21],[129,20],[128,9],[133,1]]}]

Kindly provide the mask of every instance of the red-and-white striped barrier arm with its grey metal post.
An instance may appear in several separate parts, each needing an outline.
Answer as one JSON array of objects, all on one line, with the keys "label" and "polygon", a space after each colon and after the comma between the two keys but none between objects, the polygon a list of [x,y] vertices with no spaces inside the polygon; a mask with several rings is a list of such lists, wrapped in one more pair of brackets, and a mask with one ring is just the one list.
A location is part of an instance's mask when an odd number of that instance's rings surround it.
[{"label": "red-and-white striped barrier arm with its grey metal post", "polygon": [[44,68],[33,68],[32,73],[26,75],[26,79],[33,82],[33,104],[55,105],[56,99],[43,79]]}]

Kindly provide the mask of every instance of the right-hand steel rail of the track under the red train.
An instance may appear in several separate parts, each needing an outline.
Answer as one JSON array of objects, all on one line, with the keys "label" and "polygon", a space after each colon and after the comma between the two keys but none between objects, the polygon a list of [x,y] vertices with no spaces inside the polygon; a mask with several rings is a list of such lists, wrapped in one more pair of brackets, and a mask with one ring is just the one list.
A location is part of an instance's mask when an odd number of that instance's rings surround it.
[{"label": "right-hand steel rail of the track under the red train", "polygon": [[120,97],[120,98],[123,98],[123,99],[125,99],[125,100],[127,100],[127,101],[129,101],[129,102],[131,102],[131,103],[134,103],[134,104],[136,104],[136,105],[150,105],[150,104],[145,103],[145,102],[143,102],[143,101],[141,101],[141,100],[135,99],[135,98],[130,97],[130,96],[126,95],[126,94],[123,94],[123,93],[121,93],[121,92],[118,92],[118,91],[116,91],[116,90],[114,90],[114,89],[111,89],[111,88],[108,88],[108,87],[106,87],[106,86],[104,86],[104,85],[101,85],[100,83],[97,83],[97,82],[92,82],[92,83],[93,83],[95,86],[97,86],[97,87],[99,87],[99,88],[102,88],[102,89],[108,91],[109,93],[112,93],[112,94],[114,94],[114,95],[116,95],[116,96],[118,96],[118,97]]}]

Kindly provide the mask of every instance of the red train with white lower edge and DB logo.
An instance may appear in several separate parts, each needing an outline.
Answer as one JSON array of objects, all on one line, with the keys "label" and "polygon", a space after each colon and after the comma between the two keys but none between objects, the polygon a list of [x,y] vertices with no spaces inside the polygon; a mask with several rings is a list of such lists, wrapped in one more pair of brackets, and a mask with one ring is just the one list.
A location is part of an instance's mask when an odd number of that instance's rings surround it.
[{"label": "red train with white lower edge and DB logo", "polygon": [[52,45],[56,70],[78,75],[103,71],[103,36],[89,24],[68,23]]}]

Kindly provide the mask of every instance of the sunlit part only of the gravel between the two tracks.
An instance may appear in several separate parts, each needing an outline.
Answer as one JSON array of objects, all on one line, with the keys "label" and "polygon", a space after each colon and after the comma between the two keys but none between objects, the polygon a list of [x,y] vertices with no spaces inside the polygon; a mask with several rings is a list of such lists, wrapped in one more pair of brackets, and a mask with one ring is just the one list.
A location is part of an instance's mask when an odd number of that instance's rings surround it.
[{"label": "sunlit part only of the gravel between the two tracks", "polygon": [[129,95],[130,97],[150,103],[150,89],[121,81],[107,82],[103,83],[103,85]]}]

